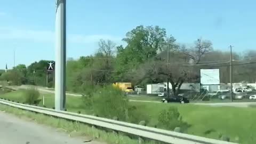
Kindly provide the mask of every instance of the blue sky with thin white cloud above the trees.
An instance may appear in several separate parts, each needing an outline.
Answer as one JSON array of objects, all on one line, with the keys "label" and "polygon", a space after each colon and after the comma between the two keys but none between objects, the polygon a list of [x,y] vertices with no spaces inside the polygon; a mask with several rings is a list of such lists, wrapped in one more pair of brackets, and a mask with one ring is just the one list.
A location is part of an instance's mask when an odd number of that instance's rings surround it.
[{"label": "blue sky with thin white cloud above the trees", "polygon": [[[0,0],[0,69],[54,60],[55,0]],[[214,49],[255,49],[256,1],[67,0],[67,57],[95,53],[100,38],[121,39],[138,25],[166,28],[188,45],[202,37]]]}]

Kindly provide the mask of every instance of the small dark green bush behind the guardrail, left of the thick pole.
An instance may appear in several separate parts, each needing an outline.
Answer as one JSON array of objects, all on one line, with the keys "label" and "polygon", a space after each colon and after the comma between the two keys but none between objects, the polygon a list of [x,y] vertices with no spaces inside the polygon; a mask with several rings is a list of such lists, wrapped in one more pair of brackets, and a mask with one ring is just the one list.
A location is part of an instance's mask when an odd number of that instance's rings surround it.
[{"label": "small dark green bush behind the guardrail, left of the thick pole", "polygon": [[24,90],[24,98],[25,98],[25,103],[35,104],[38,105],[38,103],[41,101],[39,100],[40,93],[36,89],[28,89]]}]

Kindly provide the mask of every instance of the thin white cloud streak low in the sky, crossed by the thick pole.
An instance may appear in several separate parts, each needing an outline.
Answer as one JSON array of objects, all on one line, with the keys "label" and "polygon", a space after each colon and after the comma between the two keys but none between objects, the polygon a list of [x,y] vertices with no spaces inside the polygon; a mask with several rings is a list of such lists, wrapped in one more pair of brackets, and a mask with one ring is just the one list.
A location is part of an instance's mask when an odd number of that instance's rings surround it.
[{"label": "thin white cloud streak low in the sky, crossed by the thick pole", "polygon": [[[0,27],[0,39],[20,39],[33,42],[54,42],[54,31],[50,30],[27,30],[9,27]],[[67,34],[68,43],[95,43],[100,39],[109,39],[115,43],[122,43],[121,37],[111,35],[77,35]]]}]

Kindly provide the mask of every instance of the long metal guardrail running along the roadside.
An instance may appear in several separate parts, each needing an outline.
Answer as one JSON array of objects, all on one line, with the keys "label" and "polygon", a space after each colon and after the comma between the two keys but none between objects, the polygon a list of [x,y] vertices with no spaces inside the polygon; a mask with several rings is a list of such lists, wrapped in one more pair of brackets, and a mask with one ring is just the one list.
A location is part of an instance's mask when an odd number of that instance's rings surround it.
[{"label": "long metal guardrail running along the roadside", "polygon": [[162,129],[156,129],[154,127],[142,126],[137,124],[131,124],[126,122],[115,121],[107,118],[100,118],[90,115],[70,113],[68,111],[57,111],[54,109],[25,105],[22,103],[11,102],[0,99],[0,103],[20,108],[24,110],[34,111],[36,113],[46,114],[50,116],[70,119],[86,124],[105,127],[107,129],[129,133],[137,135],[151,140],[173,143],[173,144],[235,144],[233,142],[226,142],[221,140],[209,139],[204,137],[198,137],[195,135],[189,135],[184,133],[172,132]]}]

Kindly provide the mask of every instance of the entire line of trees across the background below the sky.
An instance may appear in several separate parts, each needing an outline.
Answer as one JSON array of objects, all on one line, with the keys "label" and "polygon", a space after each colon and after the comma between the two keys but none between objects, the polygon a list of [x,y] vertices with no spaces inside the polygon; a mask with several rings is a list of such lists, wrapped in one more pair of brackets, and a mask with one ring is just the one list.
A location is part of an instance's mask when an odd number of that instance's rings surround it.
[{"label": "entire line of trees across the background below the sky", "polygon": [[[66,67],[67,90],[83,92],[81,87],[92,81],[93,85],[109,85],[114,82],[132,82],[133,85],[162,83],[169,79],[174,95],[179,94],[183,83],[199,83],[199,69],[220,67],[220,79],[229,82],[229,66],[224,63],[198,65],[196,67],[180,67],[180,64],[203,64],[203,61],[229,59],[228,52],[213,51],[212,43],[202,38],[197,39],[191,48],[179,45],[173,36],[168,36],[166,30],[159,26],[137,26],[128,31],[123,38],[125,46],[116,46],[108,39],[100,39],[99,49],[94,55],[81,56],[75,60],[69,58]],[[170,64],[166,66],[167,47],[169,47]],[[243,55],[233,53],[233,59],[251,59],[256,51],[247,51]],[[242,56],[242,57],[241,57]],[[33,62],[26,67],[18,65],[4,73],[0,70],[0,78],[14,85],[29,84],[53,87],[54,74],[49,74],[46,85],[46,66],[49,60]],[[239,64],[234,61],[234,65]],[[236,66],[234,82],[256,82],[253,65]],[[15,78],[14,78],[15,77]],[[0,79],[0,80],[1,80]]]}]

